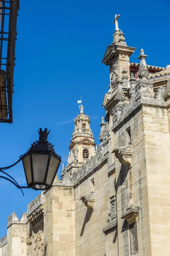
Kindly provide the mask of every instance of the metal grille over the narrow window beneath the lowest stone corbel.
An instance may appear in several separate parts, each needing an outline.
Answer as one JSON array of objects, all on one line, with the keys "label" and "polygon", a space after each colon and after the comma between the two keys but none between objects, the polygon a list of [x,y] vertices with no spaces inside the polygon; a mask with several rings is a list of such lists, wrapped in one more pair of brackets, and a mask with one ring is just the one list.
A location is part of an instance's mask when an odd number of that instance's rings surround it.
[{"label": "metal grille over the narrow window beneath the lowest stone corbel", "polygon": [[130,230],[130,253],[131,255],[138,252],[138,235],[136,222],[129,225]]}]

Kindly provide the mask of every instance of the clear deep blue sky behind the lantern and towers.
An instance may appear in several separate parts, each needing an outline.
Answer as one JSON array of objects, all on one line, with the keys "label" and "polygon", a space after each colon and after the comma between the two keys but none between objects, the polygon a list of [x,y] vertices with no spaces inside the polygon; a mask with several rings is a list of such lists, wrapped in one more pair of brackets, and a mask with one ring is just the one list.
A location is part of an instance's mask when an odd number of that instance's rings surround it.
[{"label": "clear deep blue sky behind the lantern and towers", "polygon": [[[67,161],[68,146],[83,97],[84,112],[99,144],[99,123],[108,91],[109,70],[102,64],[112,43],[115,14],[128,46],[136,47],[130,61],[139,62],[140,49],[149,65],[170,64],[168,0],[20,0],[17,21],[16,66],[14,70],[13,124],[0,124],[0,166],[16,162],[38,139],[37,129],[48,128],[49,142]],[[22,164],[8,170],[21,186],[25,184]],[[61,173],[61,168],[59,174]],[[38,192],[20,190],[0,180],[0,237],[6,234],[7,217],[15,211],[20,218]],[[3,206],[3,207],[2,207]]]}]

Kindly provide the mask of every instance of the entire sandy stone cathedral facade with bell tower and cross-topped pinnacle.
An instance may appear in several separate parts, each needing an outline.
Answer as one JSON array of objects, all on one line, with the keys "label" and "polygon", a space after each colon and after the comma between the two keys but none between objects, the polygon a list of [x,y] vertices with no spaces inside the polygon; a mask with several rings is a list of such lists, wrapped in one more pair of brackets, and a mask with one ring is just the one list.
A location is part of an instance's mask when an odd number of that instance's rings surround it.
[{"label": "entire sandy stone cathedral facade with bell tower and cross-topped pinnacle", "polygon": [[62,180],[8,217],[0,256],[170,255],[170,66],[131,63],[118,17],[101,143],[81,105]]}]

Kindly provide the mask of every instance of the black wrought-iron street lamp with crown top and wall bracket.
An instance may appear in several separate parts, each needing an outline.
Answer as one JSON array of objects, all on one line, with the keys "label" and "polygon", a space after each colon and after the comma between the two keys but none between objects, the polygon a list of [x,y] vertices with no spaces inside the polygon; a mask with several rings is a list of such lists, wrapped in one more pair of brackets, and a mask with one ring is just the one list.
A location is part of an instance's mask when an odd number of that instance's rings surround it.
[{"label": "black wrought-iron street lamp with crown top and wall bracket", "polygon": [[[31,144],[31,147],[28,149],[26,154],[20,156],[20,159],[11,166],[0,168],[0,172],[3,172],[8,177],[0,176],[11,183],[13,183],[17,188],[32,188],[35,190],[46,190],[50,189],[54,178],[59,169],[59,165],[61,163],[61,157],[57,155],[54,151],[54,145],[47,141],[47,137],[50,131],[47,131],[45,128],[42,131],[40,128],[39,140]],[[24,172],[26,175],[27,187],[21,187],[19,184],[8,175],[4,170],[9,169],[15,166],[22,160]]]}]

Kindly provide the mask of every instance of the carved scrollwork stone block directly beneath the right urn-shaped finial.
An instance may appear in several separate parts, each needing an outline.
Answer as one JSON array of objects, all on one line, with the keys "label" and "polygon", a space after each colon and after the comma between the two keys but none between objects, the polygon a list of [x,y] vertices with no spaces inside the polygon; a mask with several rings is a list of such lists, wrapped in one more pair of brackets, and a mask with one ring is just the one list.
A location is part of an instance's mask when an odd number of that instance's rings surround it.
[{"label": "carved scrollwork stone block directly beneath the right urn-shaped finial", "polygon": [[153,83],[148,80],[140,80],[135,85],[135,100],[138,101],[141,97],[154,98]]}]

